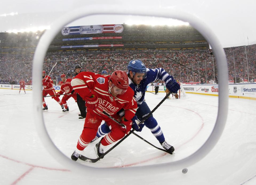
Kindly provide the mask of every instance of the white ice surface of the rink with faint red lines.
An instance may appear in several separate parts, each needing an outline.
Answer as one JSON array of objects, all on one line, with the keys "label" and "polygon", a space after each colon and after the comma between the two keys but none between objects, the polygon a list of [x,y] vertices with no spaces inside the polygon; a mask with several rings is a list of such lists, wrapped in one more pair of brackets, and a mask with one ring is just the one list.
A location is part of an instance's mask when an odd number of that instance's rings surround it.
[{"label": "white ice surface of the rink with faint red lines", "polygon": [[[134,173],[133,176],[101,178],[81,175],[67,168],[42,145],[32,115],[32,91],[0,89],[0,184],[256,184],[256,101],[229,98],[225,130],[217,145],[201,161],[172,172]],[[165,96],[147,92],[145,100],[152,110]],[[186,99],[167,99],[153,114],[168,143],[174,146],[170,155],[155,149],[131,134],[103,159],[89,163],[92,167],[130,168],[177,161],[194,153],[210,135],[218,110],[218,97],[187,94]],[[62,96],[61,96],[62,97]],[[78,120],[79,109],[73,98],[69,112],[45,98],[48,111],[43,112],[50,138],[70,158],[82,132],[84,120]],[[136,132],[161,148],[146,127]],[[97,141],[98,142],[98,141]],[[96,158],[91,143],[85,156]],[[70,159],[71,160],[71,159]],[[106,169],[107,170],[107,169]]]}]

